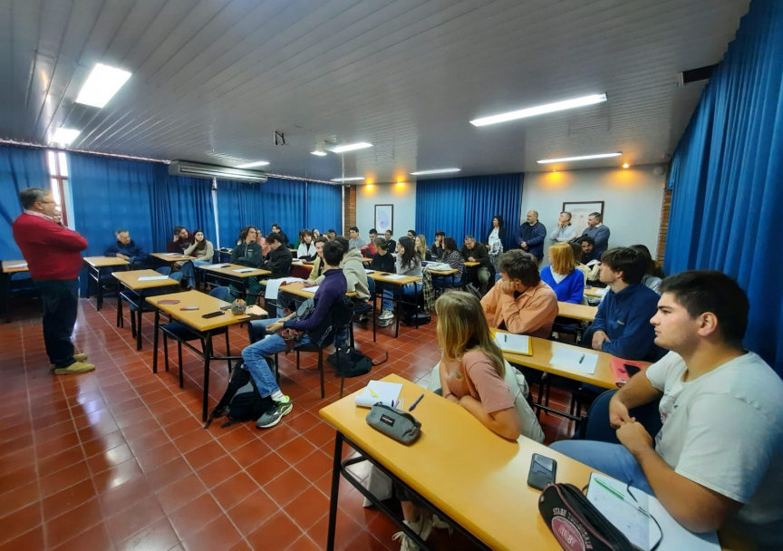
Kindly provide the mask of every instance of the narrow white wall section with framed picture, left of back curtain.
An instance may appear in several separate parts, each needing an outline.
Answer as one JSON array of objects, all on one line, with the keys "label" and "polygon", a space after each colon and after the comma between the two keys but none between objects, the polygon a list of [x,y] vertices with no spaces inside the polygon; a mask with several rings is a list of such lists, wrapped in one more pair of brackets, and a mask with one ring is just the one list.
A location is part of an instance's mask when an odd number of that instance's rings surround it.
[{"label": "narrow white wall section with framed picture, left of back curtain", "polygon": [[394,239],[416,227],[415,182],[356,186],[356,226],[365,241],[375,226],[375,205],[394,205]]}]

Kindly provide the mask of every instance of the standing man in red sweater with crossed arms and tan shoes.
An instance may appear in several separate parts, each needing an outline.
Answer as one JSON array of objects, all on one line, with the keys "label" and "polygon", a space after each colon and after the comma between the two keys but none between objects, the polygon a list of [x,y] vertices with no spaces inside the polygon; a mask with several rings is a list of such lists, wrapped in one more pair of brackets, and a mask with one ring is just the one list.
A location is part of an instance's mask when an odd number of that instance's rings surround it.
[{"label": "standing man in red sweater with crossed arms and tan shoes", "polygon": [[54,373],[89,372],[87,354],[73,354],[71,334],[79,306],[80,252],[87,240],[54,221],[52,192],[30,188],[19,193],[24,212],[14,221],[14,240],[30,269],[43,302],[43,343]]}]

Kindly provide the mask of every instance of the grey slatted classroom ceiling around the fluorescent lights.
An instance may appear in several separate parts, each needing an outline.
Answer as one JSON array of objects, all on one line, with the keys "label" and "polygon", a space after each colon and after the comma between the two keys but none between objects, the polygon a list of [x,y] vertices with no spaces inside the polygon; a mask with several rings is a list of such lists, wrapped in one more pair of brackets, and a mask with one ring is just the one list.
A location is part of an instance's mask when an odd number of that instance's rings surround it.
[{"label": "grey slatted classroom ceiling around the fluorescent lights", "polygon": [[[0,138],[265,169],[411,181],[662,163],[749,0],[0,0]],[[92,66],[132,74],[74,102]],[[470,120],[605,92],[521,121]],[[285,145],[275,145],[275,131]],[[374,147],[315,157],[319,140]]]}]

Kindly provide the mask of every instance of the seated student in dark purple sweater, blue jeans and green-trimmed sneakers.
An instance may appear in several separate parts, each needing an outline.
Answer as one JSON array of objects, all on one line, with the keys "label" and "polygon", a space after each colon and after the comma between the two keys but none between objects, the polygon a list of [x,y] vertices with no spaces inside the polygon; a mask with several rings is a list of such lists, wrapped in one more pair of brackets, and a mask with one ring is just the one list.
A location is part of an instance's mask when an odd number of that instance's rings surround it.
[{"label": "seated student in dark purple sweater, blue jeans and green-trimmed sneakers", "polygon": [[[275,244],[278,248],[285,248],[279,239],[280,237],[275,236]],[[294,348],[317,343],[321,339],[332,325],[333,306],[345,298],[347,288],[345,276],[343,270],[337,267],[342,259],[343,247],[338,243],[324,245],[326,277],[313,297],[315,309],[312,314],[301,320],[297,319],[294,313],[284,318],[250,322],[254,325],[256,333],[265,335],[263,339],[250,344],[242,351],[242,359],[245,360],[243,367],[250,372],[253,381],[256,382],[261,398],[269,402],[268,409],[256,421],[257,429],[274,427],[294,407],[291,399],[280,391],[275,381],[275,373],[266,360],[275,353],[285,351],[286,342],[277,332],[284,328],[303,332],[301,339],[294,341]]]}]

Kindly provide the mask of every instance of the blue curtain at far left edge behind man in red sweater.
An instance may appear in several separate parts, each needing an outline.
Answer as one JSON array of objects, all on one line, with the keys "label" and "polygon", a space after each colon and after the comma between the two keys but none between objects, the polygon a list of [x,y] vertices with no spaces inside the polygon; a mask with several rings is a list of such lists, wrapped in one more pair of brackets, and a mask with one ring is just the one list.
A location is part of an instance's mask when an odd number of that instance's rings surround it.
[{"label": "blue curtain at far left edge behind man in red sweater", "polygon": [[22,259],[11,225],[22,214],[19,192],[27,188],[50,188],[46,151],[0,147],[0,260]]}]

